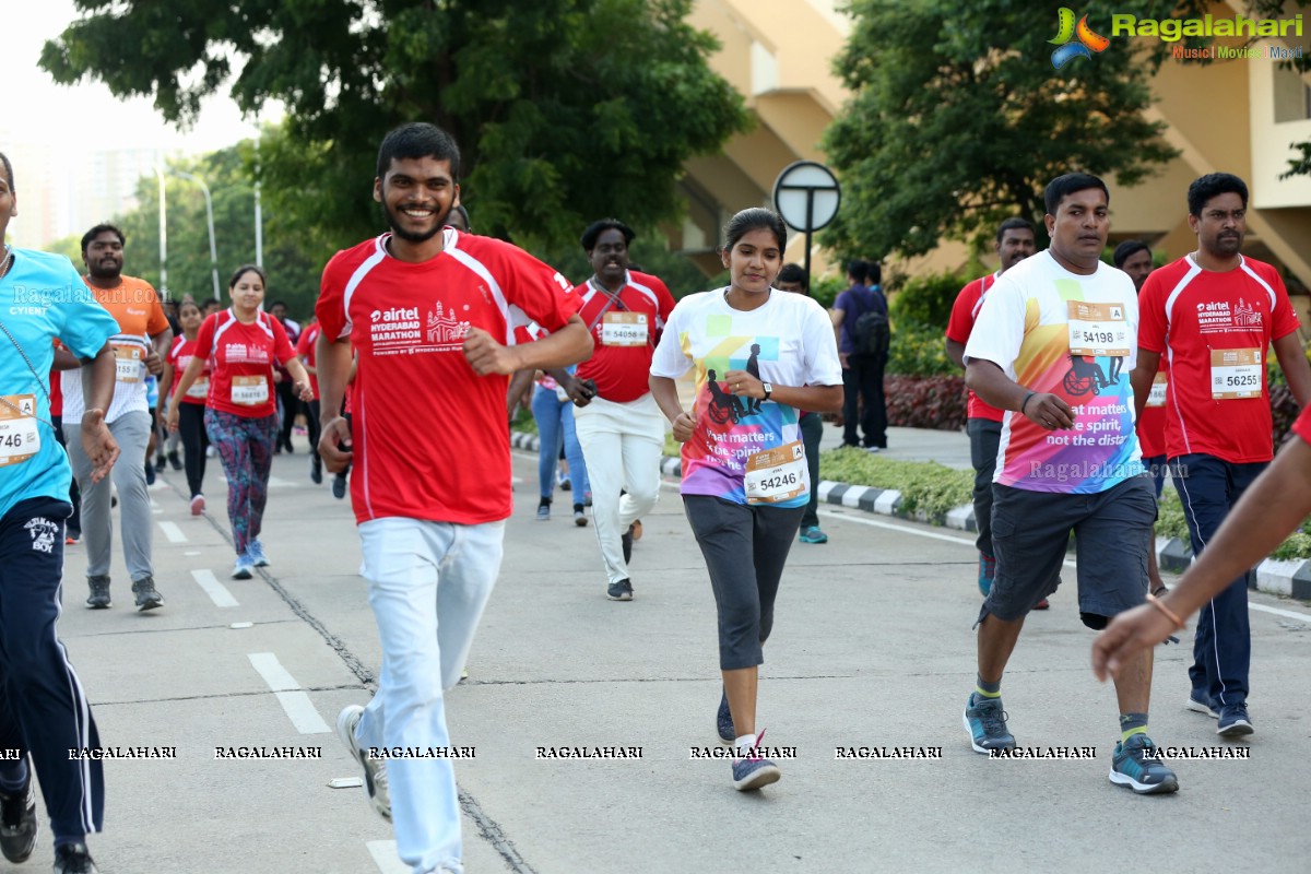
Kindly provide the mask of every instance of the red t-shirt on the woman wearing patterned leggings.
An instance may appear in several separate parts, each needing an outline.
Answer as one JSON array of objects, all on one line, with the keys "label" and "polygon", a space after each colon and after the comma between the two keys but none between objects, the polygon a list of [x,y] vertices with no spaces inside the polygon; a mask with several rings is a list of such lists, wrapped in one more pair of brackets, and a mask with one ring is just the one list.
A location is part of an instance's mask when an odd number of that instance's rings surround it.
[{"label": "red t-shirt on the woman wearing patterned leggings", "polygon": [[232,309],[208,316],[195,335],[194,355],[210,359],[211,409],[258,419],[278,411],[273,366],[296,351],[278,320],[258,312],[249,325]]}]

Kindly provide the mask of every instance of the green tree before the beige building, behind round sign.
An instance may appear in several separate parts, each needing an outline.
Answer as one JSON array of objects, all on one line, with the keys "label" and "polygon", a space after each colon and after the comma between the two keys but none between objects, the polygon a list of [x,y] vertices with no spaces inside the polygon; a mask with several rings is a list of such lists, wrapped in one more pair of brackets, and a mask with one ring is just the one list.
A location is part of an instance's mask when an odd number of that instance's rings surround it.
[{"label": "green tree before the beige building, behind round sign", "polygon": [[[1168,17],[1175,3],[1088,3]],[[825,132],[843,208],[821,237],[850,252],[931,252],[1021,215],[1040,228],[1042,189],[1083,170],[1133,185],[1176,152],[1148,122],[1152,58],[1127,42],[1054,69],[1054,14],[1021,0],[853,0],[835,63],[855,97]],[[1112,200],[1112,204],[1114,202]]]}]

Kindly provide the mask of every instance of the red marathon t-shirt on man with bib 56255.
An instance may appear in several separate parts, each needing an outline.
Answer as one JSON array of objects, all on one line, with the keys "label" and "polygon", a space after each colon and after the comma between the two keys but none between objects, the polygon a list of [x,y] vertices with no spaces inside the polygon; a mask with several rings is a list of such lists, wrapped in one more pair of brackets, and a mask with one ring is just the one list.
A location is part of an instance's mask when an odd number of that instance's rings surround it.
[{"label": "red marathon t-shirt on man with bib 56255", "polygon": [[1278,271],[1240,257],[1215,273],[1185,257],[1154,270],[1139,301],[1138,343],[1160,352],[1169,373],[1165,455],[1269,461],[1265,359],[1270,341],[1298,329]]}]

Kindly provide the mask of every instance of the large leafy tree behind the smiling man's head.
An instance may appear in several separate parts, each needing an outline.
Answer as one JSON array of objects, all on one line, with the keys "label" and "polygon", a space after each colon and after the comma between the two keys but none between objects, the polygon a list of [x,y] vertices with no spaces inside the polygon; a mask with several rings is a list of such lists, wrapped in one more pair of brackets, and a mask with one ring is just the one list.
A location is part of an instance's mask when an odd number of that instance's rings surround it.
[{"label": "large leafy tree behind the smiling man's head", "polygon": [[265,194],[338,248],[378,231],[376,148],[401,122],[460,143],[482,232],[538,246],[602,215],[674,218],[684,160],[746,124],[692,0],[75,1],[85,17],[42,52],[56,81],[90,75],[185,124],[236,72],[243,110],[287,107]]}]

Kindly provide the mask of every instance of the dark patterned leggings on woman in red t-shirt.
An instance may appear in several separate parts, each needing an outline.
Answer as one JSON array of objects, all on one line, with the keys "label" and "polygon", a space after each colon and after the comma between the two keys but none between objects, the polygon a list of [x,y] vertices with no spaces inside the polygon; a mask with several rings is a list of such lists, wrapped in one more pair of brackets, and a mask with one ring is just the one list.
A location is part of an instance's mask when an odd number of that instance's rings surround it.
[{"label": "dark patterned leggings on woman in red t-shirt", "polygon": [[228,519],[237,556],[260,536],[264,504],[269,501],[269,470],[278,439],[278,417],[260,419],[206,408],[205,432],[219,452],[228,478]]}]

